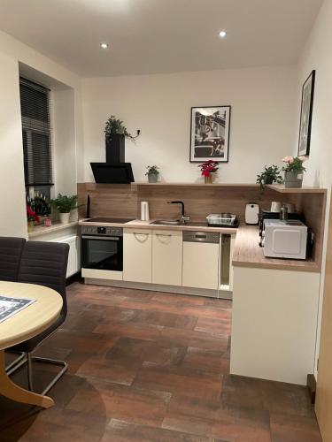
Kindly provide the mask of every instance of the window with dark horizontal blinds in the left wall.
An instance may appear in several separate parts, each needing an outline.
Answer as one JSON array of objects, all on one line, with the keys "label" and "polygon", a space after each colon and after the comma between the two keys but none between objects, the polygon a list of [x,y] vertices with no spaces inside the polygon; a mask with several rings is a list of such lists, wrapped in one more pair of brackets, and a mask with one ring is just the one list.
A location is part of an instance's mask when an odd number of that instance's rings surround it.
[{"label": "window with dark horizontal blinds in the left wall", "polygon": [[19,79],[20,111],[27,195],[50,198],[52,157],[50,146],[50,90]]}]

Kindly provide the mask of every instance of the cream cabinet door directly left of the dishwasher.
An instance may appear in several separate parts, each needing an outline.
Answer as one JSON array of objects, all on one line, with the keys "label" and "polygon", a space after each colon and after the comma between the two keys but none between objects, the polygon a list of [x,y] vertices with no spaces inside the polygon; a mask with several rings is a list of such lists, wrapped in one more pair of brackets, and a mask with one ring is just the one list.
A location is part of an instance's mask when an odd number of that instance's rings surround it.
[{"label": "cream cabinet door directly left of the dishwasher", "polygon": [[153,232],[152,283],[181,286],[182,232]]}]

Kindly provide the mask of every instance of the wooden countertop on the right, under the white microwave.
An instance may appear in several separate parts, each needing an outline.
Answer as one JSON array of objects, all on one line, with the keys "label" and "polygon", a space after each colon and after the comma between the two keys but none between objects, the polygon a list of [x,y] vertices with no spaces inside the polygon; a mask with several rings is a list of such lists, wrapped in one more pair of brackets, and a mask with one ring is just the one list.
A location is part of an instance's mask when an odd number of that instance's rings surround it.
[{"label": "wooden countertop on the right, under the white microwave", "polygon": [[240,225],[237,229],[233,253],[235,267],[254,267],[286,271],[320,272],[320,265],[313,260],[266,258],[259,247],[259,228],[256,225]]}]

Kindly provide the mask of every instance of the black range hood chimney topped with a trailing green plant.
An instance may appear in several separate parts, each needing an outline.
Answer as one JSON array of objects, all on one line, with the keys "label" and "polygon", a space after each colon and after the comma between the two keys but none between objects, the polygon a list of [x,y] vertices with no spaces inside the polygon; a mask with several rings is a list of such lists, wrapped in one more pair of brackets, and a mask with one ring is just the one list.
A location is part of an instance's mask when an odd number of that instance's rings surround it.
[{"label": "black range hood chimney topped with a trailing green plant", "polygon": [[123,121],[111,115],[106,121],[105,128],[105,143],[106,143],[106,162],[107,163],[125,163],[125,139],[135,141],[139,135],[133,136],[127,131]]}]

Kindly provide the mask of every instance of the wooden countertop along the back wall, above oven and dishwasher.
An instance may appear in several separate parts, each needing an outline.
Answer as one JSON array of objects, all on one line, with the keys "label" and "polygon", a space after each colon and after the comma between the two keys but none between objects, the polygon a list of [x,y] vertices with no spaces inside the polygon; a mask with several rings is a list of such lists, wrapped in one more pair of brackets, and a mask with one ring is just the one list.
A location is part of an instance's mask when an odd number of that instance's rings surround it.
[{"label": "wooden countertop along the back wall, above oven and dishwasher", "polygon": [[149,229],[149,230],[171,230],[171,231],[199,231],[199,232],[220,232],[235,234],[237,228],[234,227],[209,227],[207,225],[151,225],[153,219],[150,221],[142,221],[141,219],[134,219],[125,224],[119,223],[89,223],[86,219],[81,219],[79,225],[106,225],[110,227],[123,227],[124,229]]}]

